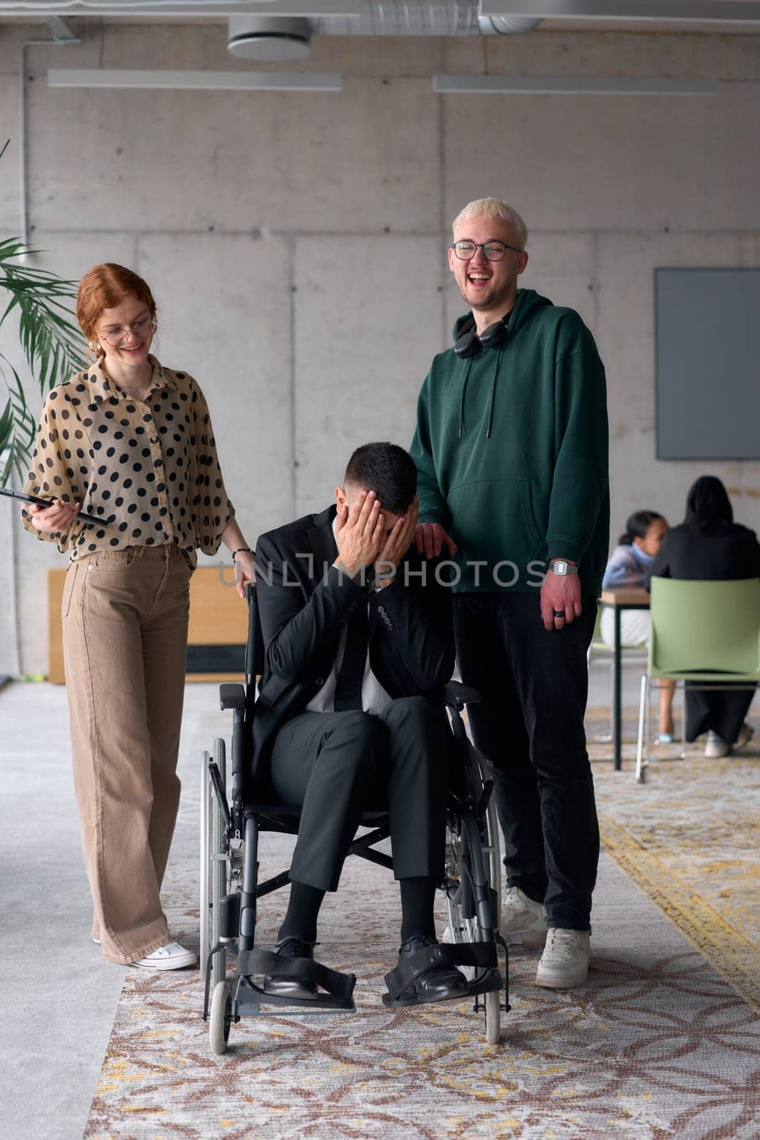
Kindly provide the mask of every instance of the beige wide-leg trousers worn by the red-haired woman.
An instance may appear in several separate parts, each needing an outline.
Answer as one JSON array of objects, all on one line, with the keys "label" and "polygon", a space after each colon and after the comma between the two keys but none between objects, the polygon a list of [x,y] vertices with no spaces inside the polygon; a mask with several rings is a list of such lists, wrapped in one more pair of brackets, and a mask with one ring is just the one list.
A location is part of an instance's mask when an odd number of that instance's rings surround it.
[{"label": "beige wide-leg trousers worn by the red-haired woman", "polygon": [[104,958],[169,940],[158,891],[177,777],[190,568],[175,546],[71,562],[63,597],[74,789]]}]

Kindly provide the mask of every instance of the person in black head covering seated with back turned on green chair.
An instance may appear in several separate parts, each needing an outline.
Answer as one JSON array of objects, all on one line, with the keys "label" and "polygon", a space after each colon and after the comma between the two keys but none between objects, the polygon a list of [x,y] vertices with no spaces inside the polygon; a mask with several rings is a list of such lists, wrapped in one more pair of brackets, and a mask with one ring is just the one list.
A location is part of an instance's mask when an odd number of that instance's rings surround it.
[{"label": "person in black head covering seated with back turned on green chair", "polygon": [[[760,545],[753,530],[734,522],[726,488],[714,475],[702,475],[686,497],[686,518],[662,540],[649,578],[725,581],[760,577]],[[686,684],[686,739],[708,733],[704,755],[727,756],[752,735],[744,718],[754,693],[703,690]]]}]

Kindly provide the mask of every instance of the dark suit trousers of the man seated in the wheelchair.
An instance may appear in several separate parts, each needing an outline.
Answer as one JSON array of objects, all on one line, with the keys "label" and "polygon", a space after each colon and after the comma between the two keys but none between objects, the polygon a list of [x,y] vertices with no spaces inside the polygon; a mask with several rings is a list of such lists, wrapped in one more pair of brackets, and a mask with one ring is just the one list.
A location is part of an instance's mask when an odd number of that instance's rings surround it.
[{"label": "dark suit trousers of the man seated in the wheelchair", "polygon": [[271,784],[301,807],[291,879],[337,890],[361,815],[390,814],[397,879],[443,873],[451,733],[425,697],[369,712],[302,712],[277,733]]}]

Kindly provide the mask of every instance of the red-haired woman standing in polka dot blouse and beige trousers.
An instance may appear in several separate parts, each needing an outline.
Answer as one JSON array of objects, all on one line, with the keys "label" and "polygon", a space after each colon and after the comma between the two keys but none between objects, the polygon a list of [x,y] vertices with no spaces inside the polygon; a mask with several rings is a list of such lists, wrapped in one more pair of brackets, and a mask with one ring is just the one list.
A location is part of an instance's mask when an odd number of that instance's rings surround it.
[{"label": "red-haired woman standing in polka dot blouse and beige trousers", "polygon": [[[96,363],[44,401],[24,526],[70,555],[64,661],[92,937],[112,962],[178,969],[160,889],[179,804],[189,580],[196,548],[251,552],[196,381],[150,356],[156,306],[122,266],[96,266],[76,317]],[[82,510],[103,519],[83,523]]]}]

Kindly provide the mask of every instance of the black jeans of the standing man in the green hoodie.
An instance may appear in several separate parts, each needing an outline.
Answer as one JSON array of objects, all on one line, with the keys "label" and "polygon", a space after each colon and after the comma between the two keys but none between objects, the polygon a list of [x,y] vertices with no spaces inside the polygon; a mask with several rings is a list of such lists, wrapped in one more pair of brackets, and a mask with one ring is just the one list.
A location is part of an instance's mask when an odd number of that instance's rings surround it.
[{"label": "black jeans of the standing man in the green hoodie", "polygon": [[545,902],[550,927],[588,930],[599,858],[583,715],[596,598],[546,630],[539,592],[455,595],[461,679],[476,748],[492,769],[509,886]]}]

